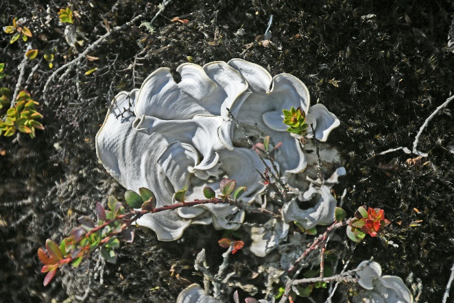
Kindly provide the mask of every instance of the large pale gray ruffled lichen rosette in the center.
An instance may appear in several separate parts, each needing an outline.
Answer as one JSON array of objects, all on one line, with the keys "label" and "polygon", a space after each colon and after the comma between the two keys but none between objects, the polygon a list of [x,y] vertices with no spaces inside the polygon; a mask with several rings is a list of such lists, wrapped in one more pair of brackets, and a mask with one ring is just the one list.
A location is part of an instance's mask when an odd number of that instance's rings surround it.
[{"label": "large pale gray ruffled lichen rosette in the center", "polygon": [[[313,191],[307,177],[316,177],[316,167],[309,168],[315,165],[316,158],[305,151],[306,147],[300,147],[299,138],[287,132],[282,110],[302,108],[307,121],[315,127],[315,134],[309,135],[322,142],[339,120],[322,104],[310,106],[308,90],[298,78],[286,73],[271,77],[261,66],[241,59],[204,66],[187,63],[177,71],[181,75],[178,83],[169,69],[160,68],[147,77],[139,90],[121,92],[112,101],[97,133],[96,149],[101,163],[121,185],[132,191],[140,187],[152,190],[156,206],[160,207],[179,203],[174,193],[185,186],[187,201],[201,199],[204,186],[220,194],[220,180],[229,178],[247,187],[241,202],[252,203],[265,189],[256,173],[256,169],[264,171],[265,166],[256,151],[244,144],[230,110],[256,142],[270,136],[273,146],[283,143],[275,156],[280,175],[295,189]],[[124,108],[130,111],[124,112]],[[322,147],[321,151],[326,167],[340,165],[335,149]],[[331,207],[329,191],[315,191]],[[304,212],[300,209],[294,214],[289,210],[284,217],[298,219],[301,211]],[[329,218],[316,218],[313,223],[326,223],[333,219],[332,213],[327,212]],[[158,239],[171,241],[181,237],[191,223],[213,223],[217,229],[235,230],[244,217],[243,210],[235,206],[204,204],[147,214],[137,223],[154,230]],[[267,236],[257,236],[256,241],[272,237],[277,245],[288,228],[282,220],[276,224],[270,229],[278,232],[276,237],[270,235],[272,231],[261,230]],[[267,247],[254,252],[260,256],[275,245],[259,246]]]}]

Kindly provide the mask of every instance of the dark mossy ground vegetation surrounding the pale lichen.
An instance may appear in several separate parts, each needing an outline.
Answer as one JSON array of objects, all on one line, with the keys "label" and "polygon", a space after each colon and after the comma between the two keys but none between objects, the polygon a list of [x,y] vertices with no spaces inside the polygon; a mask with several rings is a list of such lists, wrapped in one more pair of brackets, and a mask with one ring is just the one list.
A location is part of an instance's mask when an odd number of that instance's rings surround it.
[{"label": "dark mossy ground vegetation surrounding the pale lichen", "polygon": [[[84,45],[75,48],[58,23],[58,10],[68,4],[86,33]],[[392,221],[387,239],[398,245],[368,238],[353,252],[350,268],[373,256],[384,274],[405,280],[412,273],[414,283],[422,282],[418,302],[440,302],[454,261],[453,104],[438,113],[420,138],[418,149],[428,152],[427,158],[407,163],[416,156],[374,154],[411,148],[420,125],[452,95],[454,53],[447,43],[453,2],[174,0],[154,22],[154,34],[139,28],[140,21],[112,34],[89,53],[97,60],[84,59],[63,79],[56,77],[49,86],[49,105],[43,104],[49,75],[106,33],[107,24],[123,25],[141,13],[146,14],[142,21],[150,21],[158,4],[1,1],[1,26],[11,25],[14,16],[25,17],[34,34],[29,43],[40,53],[27,63],[25,75],[39,64],[27,90],[40,101],[46,128],[33,140],[23,134],[15,142],[0,138],[0,300],[61,302],[83,296],[88,287],[86,302],[174,302],[184,279],[202,280],[193,269],[201,247],[213,256],[211,263],[219,262],[220,233],[200,227],[174,243],[158,242],[153,232],[140,230],[132,245],[122,245],[117,265],[104,267],[102,285],[93,256],[79,269],[60,272],[44,288],[36,256],[45,239],[60,241],[77,217],[92,215],[96,202],[123,195],[95,154],[106,104],[120,90],[139,88],[158,67],[174,71],[191,56],[201,65],[244,58],[272,75],[291,73],[307,84],[312,104],[319,100],[342,122],[330,142],[346,159],[348,175],[336,188],[337,195],[348,189],[344,208],[349,215],[363,204],[383,208]],[[265,33],[271,14],[272,38],[265,47],[257,36]],[[189,23],[171,22],[175,16]],[[10,45],[9,40],[2,31],[0,62],[8,77],[1,85],[13,89],[25,43]],[[43,60],[45,51],[55,54],[53,69]],[[84,75],[94,67],[95,73]],[[241,252],[232,260],[253,270]],[[337,293],[342,301],[347,288]]]}]

